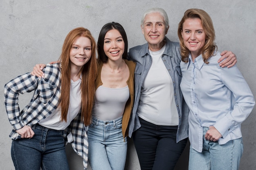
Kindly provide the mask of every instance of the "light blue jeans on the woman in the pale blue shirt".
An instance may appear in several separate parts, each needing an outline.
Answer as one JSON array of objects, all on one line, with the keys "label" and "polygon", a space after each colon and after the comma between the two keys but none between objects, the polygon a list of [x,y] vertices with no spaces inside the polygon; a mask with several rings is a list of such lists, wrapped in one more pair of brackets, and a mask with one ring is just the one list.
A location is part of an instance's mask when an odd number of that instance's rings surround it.
[{"label": "light blue jeans on the woman in the pale blue shirt", "polygon": [[[204,127],[204,135],[209,130]],[[238,170],[243,154],[242,137],[220,145],[218,141],[208,141],[203,135],[202,153],[190,146],[189,170]]]}]

